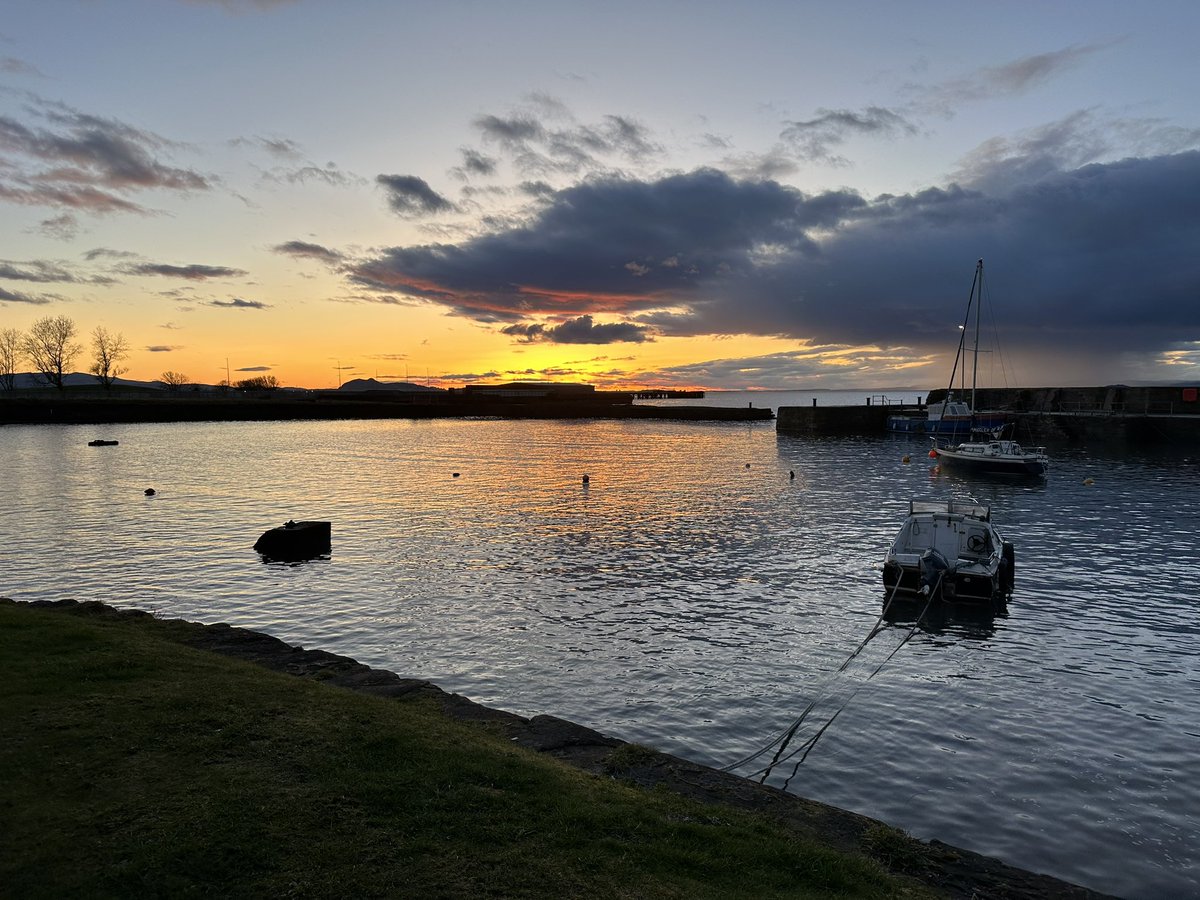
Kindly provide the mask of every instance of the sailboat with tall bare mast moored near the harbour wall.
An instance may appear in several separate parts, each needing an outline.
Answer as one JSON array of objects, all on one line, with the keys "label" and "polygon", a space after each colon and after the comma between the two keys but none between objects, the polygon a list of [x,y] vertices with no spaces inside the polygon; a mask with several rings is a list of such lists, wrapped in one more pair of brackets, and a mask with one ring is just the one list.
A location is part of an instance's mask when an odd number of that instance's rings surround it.
[{"label": "sailboat with tall bare mast moored near the harbour wall", "polygon": [[[971,320],[971,306],[974,305],[974,348],[972,350],[974,364],[971,368],[971,403],[976,406],[976,382],[979,374],[979,318],[983,308],[983,260],[976,263],[974,281],[971,283],[971,296],[967,299],[967,322]],[[950,388],[954,386],[954,376],[961,364],[966,367],[966,324],[959,336],[959,352],[954,358],[954,368],[950,370]],[[947,404],[952,400],[950,390],[946,392]],[[1010,437],[1004,437],[1006,427],[984,425],[972,416],[971,437],[960,444],[942,446],[938,439],[934,438],[934,449],[930,456],[936,456],[938,464],[948,469],[970,472],[985,475],[1044,475],[1050,466],[1045,448],[1022,448]]]}]

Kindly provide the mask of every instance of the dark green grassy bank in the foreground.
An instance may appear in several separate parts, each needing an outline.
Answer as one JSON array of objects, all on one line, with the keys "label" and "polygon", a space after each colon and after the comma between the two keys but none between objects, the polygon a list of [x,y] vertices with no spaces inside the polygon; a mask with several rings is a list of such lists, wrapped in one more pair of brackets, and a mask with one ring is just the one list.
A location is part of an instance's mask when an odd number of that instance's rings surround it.
[{"label": "dark green grassy bank in the foreground", "polygon": [[4,895],[922,895],[752,815],[173,628],[0,604]]}]

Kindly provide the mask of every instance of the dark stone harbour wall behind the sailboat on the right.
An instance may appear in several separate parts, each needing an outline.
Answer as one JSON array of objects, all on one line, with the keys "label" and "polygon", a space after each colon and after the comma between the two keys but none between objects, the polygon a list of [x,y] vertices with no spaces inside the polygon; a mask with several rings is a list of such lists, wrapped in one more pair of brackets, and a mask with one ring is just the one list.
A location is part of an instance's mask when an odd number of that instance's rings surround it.
[{"label": "dark stone harbour wall behind the sailboat on the right", "polygon": [[[917,404],[868,397],[852,407],[780,407],[775,430],[809,437],[887,434],[890,415],[919,414],[946,397],[932,390]],[[979,388],[976,408],[1003,410],[1021,440],[1039,443],[1195,444],[1200,439],[1200,389],[1105,385],[1103,388]]]}]

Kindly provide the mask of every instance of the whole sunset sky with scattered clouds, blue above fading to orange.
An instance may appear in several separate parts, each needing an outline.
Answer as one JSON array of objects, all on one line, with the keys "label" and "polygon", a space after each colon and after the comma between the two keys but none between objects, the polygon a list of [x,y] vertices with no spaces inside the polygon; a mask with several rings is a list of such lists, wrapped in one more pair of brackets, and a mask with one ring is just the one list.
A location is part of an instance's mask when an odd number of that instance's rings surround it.
[{"label": "whole sunset sky with scattered clouds, blue above fading to orange", "polygon": [[[1200,4],[6,0],[0,329],[127,378],[1200,382]],[[973,301],[972,301],[973,302]],[[973,314],[973,313],[972,313]]]}]

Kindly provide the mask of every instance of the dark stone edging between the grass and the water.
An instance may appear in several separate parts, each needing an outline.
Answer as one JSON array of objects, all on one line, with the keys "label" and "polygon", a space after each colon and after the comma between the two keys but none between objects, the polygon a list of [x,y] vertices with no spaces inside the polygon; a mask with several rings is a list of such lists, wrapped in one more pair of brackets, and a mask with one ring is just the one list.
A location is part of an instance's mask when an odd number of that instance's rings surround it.
[{"label": "dark stone edging between the grass and the water", "polygon": [[[7,598],[2,604],[18,605]],[[83,618],[155,618],[143,610],[122,610],[98,601],[34,601],[30,607]],[[833,850],[858,853],[884,868],[920,881],[948,896],[1104,898],[1106,895],[1048,875],[1018,869],[941,841],[919,841],[877,820],[809,800],[739,775],[720,772],[637,744],[601,734],[552,715],[523,718],[448,694],[431,682],[377,670],[349,656],[305,649],[270,635],[230,626],[164,619],[182,631],[182,646],[217,653],[323,684],[396,700],[433,701],[448,719],[499,730],[514,744],[582,769],[643,788],[668,790],[703,803],[733,806],[781,822],[799,835]],[[871,834],[886,829],[904,844],[881,847]],[[899,863],[899,864],[898,864]]]}]

